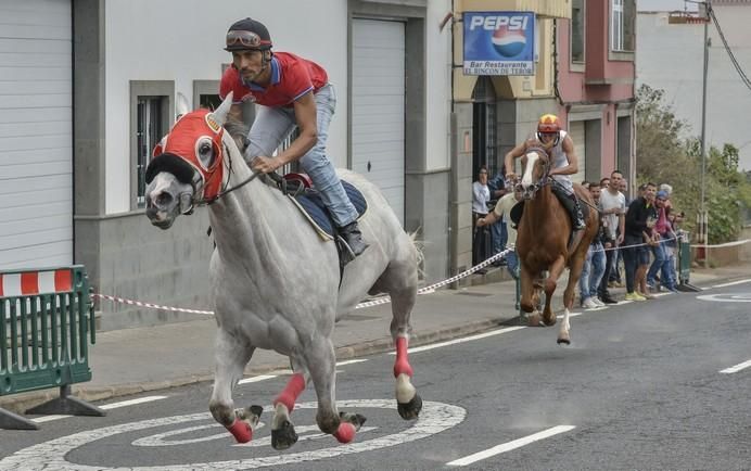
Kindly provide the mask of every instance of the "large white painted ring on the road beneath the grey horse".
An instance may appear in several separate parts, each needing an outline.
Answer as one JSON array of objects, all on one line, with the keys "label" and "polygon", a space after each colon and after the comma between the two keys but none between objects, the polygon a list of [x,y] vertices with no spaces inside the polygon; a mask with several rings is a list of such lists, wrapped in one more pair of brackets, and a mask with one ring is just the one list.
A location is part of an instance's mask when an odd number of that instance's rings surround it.
[{"label": "large white painted ring on the road beneath the grey horse", "polygon": [[[295,409],[315,409],[318,406],[315,402],[302,403],[295,405]],[[338,400],[336,406],[342,409],[366,409],[366,408],[378,408],[378,409],[396,409],[396,402],[393,399],[364,399],[364,400]],[[420,418],[413,425],[408,429],[394,433],[391,435],[380,436],[377,438],[368,440],[365,442],[356,442],[347,445],[336,445],[333,447],[328,447],[315,451],[305,453],[291,453],[279,456],[265,456],[259,458],[249,458],[249,459],[236,459],[227,461],[211,461],[211,462],[196,462],[196,463],[182,463],[182,464],[169,464],[169,466],[153,466],[153,467],[133,467],[127,468],[135,471],[155,471],[155,470],[175,470],[181,471],[184,469],[211,469],[211,470],[236,470],[236,469],[250,469],[258,467],[271,467],[278,464],[297,463],[304,461],[313,461],[317,459],[332,458],[340,455],[349,455],[360,451],[369,451],[379,448],[385,448],[395,445],[402,445],[407,442],[413,442],[416,440],[425,438],[428,436],[434,435],[436,433],[448,430],[453,427],[461,423],[467,417],[467,411],[458,406],[451,406],[443,403],[434,403],[425,400],[422,404],[422,412]],[[148,430],[156,427],[164,427],[169,424],[179,424],[186,422],[193,422],[196,420],[211,419],[208,412],[192,413],[186,416],[173,416],[160,419],[142,420],[138,422],[123,423],[119,425],[109,425],[102,429],[96,429],[79,433],[74,433],[73,435],[63,436],[49,442],[44,442],[38,445],[34,445],[24,449],[21,449],[13,455],[0,460],[0,468],[2,469],[55,469],[55,470],[75,470],[75,471],[94,471],[94,470],[105,470],[105,469],[123,469],[118,466],[116,468],[107,468],[103,466],[88,466],[68,462],[65,456],[73,451],[74,449],[88,445],[98,440],[117,435],[120,433],[135,432],[140,430]],[[177,432],[171,432],[171,435],[179,433],[188,433],[191,430],[196,430],[195,427],[186,428]],[[300,428],[301,432],[303,428]],[[305,430],[309,430],[306,428]],[[362,428],[360,432],[367,432],[373,430],[372,428]],[[327,436],[320,434],[321,436]],[[164,434],[152,435],[152,437],[164,438]],[[227,433],[222,434],[226,440],[228,437]],[[313,436],[310,436],[313,438]],[[331,438],[331,437],[329,437]],[[333,440],[333,438],[331,438]],[[253,442],[251,442],[253,443]],[[143,445],[143,444],[141,444]],[[245,445],[243,445],[245,446]],[[240,447],[240,446],[239,446]]]}]

